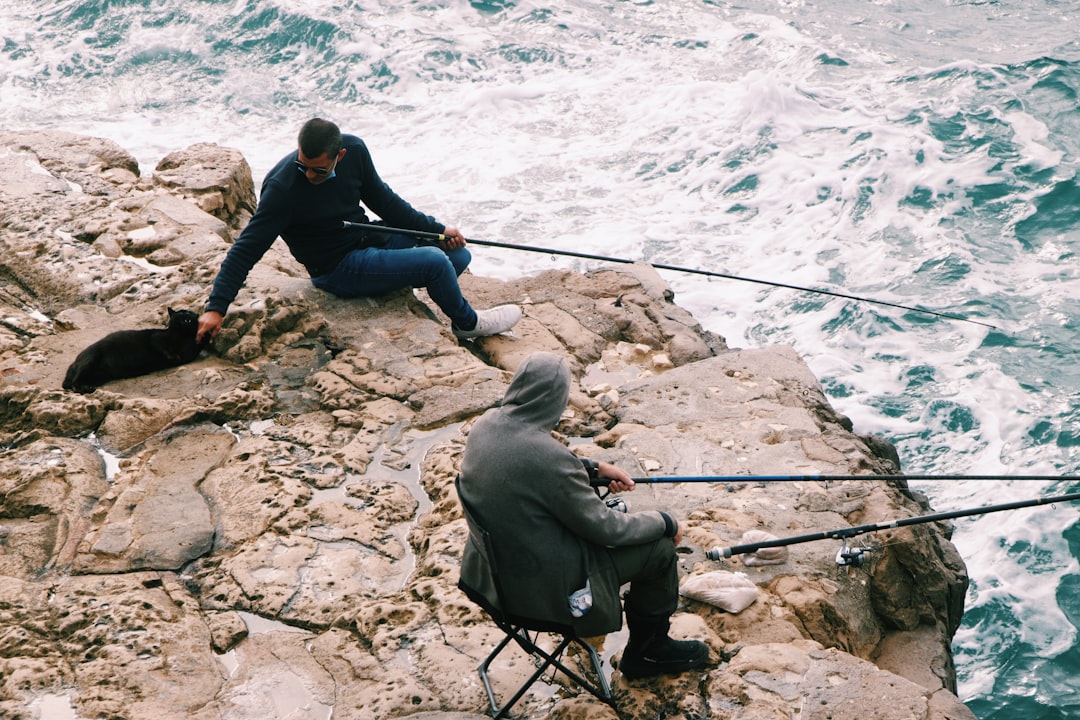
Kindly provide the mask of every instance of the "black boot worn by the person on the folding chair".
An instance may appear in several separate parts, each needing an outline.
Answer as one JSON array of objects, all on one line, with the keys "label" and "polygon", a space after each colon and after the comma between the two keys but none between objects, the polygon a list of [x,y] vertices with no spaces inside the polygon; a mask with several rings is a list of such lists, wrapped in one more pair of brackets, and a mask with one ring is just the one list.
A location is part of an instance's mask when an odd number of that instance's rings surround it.
[{"label": "black boot worn by the person on the folding chair", "polygon": [[632,680],[657,675],[674,675],[704,667],[708,647],[700,640],[673,640],[667,615],[637,615],[626,610],[630,640],[622,652],[619,670]]}]

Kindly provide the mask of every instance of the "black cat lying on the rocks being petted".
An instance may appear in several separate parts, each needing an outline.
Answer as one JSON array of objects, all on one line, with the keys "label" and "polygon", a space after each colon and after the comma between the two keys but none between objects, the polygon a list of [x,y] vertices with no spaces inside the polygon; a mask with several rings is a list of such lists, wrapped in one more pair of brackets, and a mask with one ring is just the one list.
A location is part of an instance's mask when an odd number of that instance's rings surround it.
[{"label": "black cat lying on the rocks being petted", "polygon": [[68,367],[64,390],[92,393],[110,380],[134,378],[190,363],[208,338],[195,342],[199,315],[168,309],[166,329],[118,330],[83,350]]}]

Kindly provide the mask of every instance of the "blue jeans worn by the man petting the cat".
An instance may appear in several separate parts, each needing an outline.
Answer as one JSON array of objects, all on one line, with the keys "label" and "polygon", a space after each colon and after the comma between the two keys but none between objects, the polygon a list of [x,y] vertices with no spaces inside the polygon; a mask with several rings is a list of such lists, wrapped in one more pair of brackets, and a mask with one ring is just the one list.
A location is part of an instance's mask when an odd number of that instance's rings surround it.
[{"label": "blue jeans worn by the man petting the cat", "polygon": [[311,284],[339,298],[384,295],[403,287],[426,287],[455,327],[476,326],[476,311],[458,286],[472,254],[464,247],[444,252],[405,235],[391,235],[382,247],[364,247],[345,256],[332,272]]}]

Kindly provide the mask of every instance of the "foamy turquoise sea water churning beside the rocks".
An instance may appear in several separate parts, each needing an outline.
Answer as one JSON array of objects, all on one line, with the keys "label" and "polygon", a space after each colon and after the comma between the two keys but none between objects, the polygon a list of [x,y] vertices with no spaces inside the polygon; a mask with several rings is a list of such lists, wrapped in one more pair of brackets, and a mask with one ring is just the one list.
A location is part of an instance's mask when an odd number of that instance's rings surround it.
[{"label": "foamy turquoise sea water churning beside the rocks", "polygon": [[[323,116],[468,236],[765,281],[662,273],[732,347],[793,345],[906,472],[1062,478],[917,484],[960,510],[1080,490],[1078,28],[1077,0],[6,0],[0,128],[144,174],[216,142],[258,181]],[[1078,516],[956,524],[984,720],[1080,717]]]}]

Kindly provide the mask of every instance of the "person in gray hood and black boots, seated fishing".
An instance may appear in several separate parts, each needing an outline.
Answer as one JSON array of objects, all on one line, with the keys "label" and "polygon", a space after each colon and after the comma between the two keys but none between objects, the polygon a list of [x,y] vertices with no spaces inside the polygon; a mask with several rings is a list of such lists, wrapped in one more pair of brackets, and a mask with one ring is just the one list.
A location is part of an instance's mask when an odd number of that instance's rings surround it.
[{"label": "person in gray hood and black boots, seated fishing", "polygon": [[[581,637],[604,635],[622,627],[619,589],[629,582],[622,674],[644,678],[702,667],[708,661],[703,642],[667,636],[678,604],[678,522],[657,511],[620,512],[596,494],[591,476],[610,480],[613,491],[633,490],[634,483],[613,465],[580,459],[552,436],[569,396],[566,362],[534,353],[500,404],[469,433],[459,491],[494,541],[508,606],[502,610],[572,625]],[[498,604],[490,570],[471,544],[462,554],[461,581]],[[592,607],[578,615],[569,597],[586,586]]]}]

